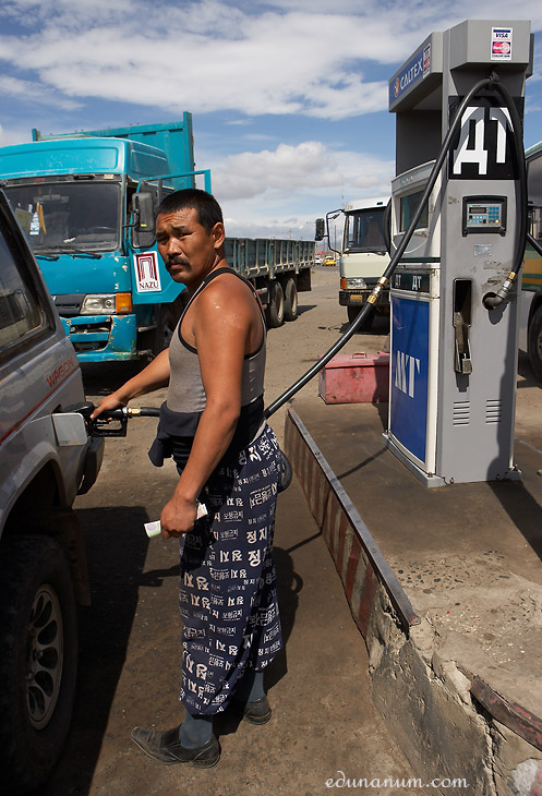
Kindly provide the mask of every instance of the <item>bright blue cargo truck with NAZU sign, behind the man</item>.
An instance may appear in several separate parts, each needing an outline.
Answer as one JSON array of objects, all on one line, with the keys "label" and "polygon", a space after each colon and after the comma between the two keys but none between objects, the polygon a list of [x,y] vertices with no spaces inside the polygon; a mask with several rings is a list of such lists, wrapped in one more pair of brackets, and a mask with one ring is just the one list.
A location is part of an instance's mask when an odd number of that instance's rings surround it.
[{"label": "bright blue cargo truck with NAZU sign, behind the man", "polygon": [[[38,258],[80,362],[153,357],[168,343],[180,292],[156,249],[165,192],[203,188],[192,114],[169,124],[44,136],[0,148],[0,179]],[[202,184],[203,183],[203,184]],[[228,238],[230,265],[252,281],[269,327],[292,321],[311,289],[314,242]]]}]

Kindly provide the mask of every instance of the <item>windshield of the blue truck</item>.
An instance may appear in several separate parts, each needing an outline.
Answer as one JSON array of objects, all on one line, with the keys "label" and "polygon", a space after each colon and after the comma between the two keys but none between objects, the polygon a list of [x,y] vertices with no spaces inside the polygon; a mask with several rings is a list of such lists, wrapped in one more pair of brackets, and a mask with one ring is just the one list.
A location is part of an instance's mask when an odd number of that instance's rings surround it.
[{"label": "windshield of the blue truck", "polygon": [[36,254],[106,252],[119,246],[120,185],[39,182],[5,193]]}]

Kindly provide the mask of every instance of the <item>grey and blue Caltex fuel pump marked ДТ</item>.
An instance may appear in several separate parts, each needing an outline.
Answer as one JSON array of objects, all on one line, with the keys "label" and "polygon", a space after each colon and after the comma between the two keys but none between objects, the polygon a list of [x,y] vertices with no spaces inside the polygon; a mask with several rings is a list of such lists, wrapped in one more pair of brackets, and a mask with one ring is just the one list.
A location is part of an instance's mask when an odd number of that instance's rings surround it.
[{"label": "grey and blue Caltex fuel pump marked \u0414\u0422", "polygon": [[389,81],[397,114],[389,449],[427,486],[513,466],[527,191],[528,22],[431,34]]}]

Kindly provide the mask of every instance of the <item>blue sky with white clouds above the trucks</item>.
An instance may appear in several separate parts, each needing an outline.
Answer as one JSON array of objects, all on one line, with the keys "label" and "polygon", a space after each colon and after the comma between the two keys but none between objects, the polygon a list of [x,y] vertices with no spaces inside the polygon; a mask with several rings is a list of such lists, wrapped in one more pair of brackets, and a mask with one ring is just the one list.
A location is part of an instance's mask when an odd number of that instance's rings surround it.
[{"label": "blue sky with white clouds above the trucks", "polygon": [[389,192],[388,81],[433,31],[530,20],[525,145],[542,140],[540,0],[0,0],[0,146],[193,116],[227,233],[312,239]]}]

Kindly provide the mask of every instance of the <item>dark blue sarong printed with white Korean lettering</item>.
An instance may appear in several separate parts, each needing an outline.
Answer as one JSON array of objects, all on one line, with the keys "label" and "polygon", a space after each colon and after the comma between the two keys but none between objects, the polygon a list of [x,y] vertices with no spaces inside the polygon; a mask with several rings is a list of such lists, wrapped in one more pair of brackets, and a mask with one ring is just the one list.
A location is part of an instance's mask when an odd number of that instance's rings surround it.
[{"label": "dark blue sarong printed with white Korean lettering", "polygon": [[182,685],[192,714],[222,711],[242,676],[282,647],[273,533],[281,456],[269,426],[220,466],[201,500],[208,517],[180,538]]}]

